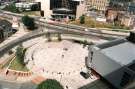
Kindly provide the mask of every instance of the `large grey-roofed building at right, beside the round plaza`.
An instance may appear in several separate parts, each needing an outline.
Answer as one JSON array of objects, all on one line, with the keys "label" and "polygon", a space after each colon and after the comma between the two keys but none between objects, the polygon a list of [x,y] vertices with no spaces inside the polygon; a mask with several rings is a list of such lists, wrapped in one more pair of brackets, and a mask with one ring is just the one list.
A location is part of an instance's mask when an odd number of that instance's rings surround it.
[{"label": "large grey-roofed building at right, beside the round plaza", "polygon": [[87,65],[115,89],[135,89],[135,32],[89,48]]}]

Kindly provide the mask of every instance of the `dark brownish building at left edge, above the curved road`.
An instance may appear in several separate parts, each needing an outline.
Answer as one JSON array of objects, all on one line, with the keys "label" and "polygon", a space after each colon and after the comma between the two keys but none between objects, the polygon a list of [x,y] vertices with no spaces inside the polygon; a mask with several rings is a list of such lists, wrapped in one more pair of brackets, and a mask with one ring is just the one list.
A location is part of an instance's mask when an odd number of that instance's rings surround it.
[{"label": "dark brownish building at left edge, above the curved road", "polygon": [[0,20],[0,42],[13,34],[12,24],[6,20]]}]

